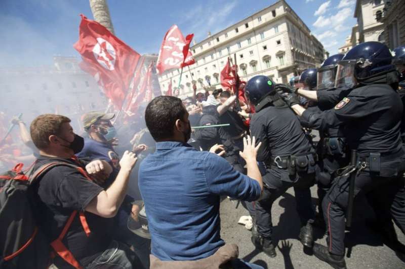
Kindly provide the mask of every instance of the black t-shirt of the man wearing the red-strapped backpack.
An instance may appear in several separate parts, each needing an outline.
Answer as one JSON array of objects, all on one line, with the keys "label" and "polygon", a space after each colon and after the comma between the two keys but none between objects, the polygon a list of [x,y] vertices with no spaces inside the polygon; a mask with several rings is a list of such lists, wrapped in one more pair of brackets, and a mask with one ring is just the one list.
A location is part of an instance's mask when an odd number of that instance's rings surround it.
[{"label": "black t-shirt of the man wearing the red-strapped backpack", "polygon": [[[73,159],[49,158],[39,156],[35,169],[50,163],[64,162],[85,167],[85,163],[77,163]],[[39,227],[50,241],[55,240],[61,233],[73,210],[83,211],[90,201],[103,188],[86,179],[76,169],[67,166],[57,166],[48,171],[35,186],[39,199]],[[113,219],[102,218],[90,212],[85,212],[90,227],[87,237],[78,217],[75,217],[65,238],[64,245],[72,252],[80,264],[86,266],[95,257],[105,251],[111,242]],[[54,263],[58,268],[72,268],[62,258],[57,256]]]}]

